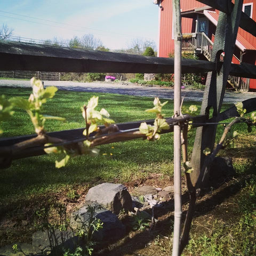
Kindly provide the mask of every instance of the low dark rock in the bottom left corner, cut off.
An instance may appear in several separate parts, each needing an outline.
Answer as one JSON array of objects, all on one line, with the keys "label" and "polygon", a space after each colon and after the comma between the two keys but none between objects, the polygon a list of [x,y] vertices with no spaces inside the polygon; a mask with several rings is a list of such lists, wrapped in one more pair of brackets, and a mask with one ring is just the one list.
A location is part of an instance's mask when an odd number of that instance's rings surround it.
[{"label": "low dark rock in the bottom left corner, cut off", "polygon": [[13,244],[1,247],[0,255],[1,256],[24,256],[24,255],[43,256],[43,252],[31,244],[26,244],[26,243],[18,244],[18,248],[21,249],[22,252],[24,252],[25,254],[23,254],[21,251],[15,253],[12,249],[12,246]]}]

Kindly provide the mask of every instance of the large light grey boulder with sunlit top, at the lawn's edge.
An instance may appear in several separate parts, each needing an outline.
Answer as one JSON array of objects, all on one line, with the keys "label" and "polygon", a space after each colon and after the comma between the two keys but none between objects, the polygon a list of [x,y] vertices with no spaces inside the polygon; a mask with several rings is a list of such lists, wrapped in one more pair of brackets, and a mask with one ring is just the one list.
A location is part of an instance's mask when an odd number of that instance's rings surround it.
[{"label": "large light grey boulder with sunlit top, at the lawn's edge", "polygon": [[122,184],[102,183],[90,188],[85,200],[97,202],[115,214],[119,214],[122,209],[132,210],[131,195]]}]

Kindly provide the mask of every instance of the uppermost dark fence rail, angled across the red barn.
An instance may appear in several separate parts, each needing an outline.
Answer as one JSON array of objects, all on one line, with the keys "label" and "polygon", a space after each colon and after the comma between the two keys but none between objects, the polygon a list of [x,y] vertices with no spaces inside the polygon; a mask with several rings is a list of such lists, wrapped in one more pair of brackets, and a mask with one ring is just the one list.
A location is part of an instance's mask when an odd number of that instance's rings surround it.
[{"label": "uppermost dark fence rail, angled across the red barn", "polygon": [[[230,0],[197,0],[203,4],[207,4],[214,9],[217,9],[224,13],[231,13],[234,8],[234,4],[231,3]],[[249,32],[253,36],[256,36],[256,22],[251,19],[248,15],[244,12],[241,13],[241,19],[239,22],[239,27],[244,29],[245,31]]]}]

